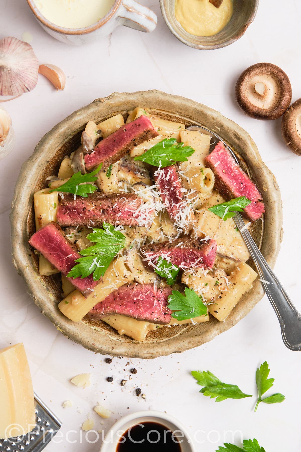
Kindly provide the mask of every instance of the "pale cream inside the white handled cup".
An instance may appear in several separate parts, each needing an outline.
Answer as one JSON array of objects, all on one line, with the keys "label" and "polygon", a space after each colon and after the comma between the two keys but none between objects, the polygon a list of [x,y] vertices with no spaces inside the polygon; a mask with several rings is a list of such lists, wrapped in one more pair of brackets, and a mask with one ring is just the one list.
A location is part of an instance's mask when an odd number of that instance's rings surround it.
[{"label": "pale cream inside the white handled cup", "polygon": [[84,28],[102,19],[115,0],[36,0],[37,8],[53,24]]}]

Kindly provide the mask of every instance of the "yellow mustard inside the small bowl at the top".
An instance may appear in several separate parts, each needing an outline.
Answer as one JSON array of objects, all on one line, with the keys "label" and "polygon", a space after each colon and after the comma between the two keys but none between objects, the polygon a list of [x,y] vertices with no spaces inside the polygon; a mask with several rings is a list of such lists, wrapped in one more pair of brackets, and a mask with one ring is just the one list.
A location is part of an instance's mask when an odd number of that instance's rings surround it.
[{"label": "yellow mustard inside the small bowl at the top", "polygon": [[209,0],[176,0],[176,20],[195,36],[213,36],[226,27],[233,13],[232,0],[216,8]]}]

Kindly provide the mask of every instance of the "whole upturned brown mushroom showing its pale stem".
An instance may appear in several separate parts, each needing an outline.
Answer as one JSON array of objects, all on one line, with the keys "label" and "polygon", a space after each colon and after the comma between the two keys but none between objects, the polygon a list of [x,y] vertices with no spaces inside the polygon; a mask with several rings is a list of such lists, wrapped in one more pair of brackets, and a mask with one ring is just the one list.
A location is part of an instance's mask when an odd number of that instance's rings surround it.
[{"label": "whole upturned brown mushroom showing its pale stem", "polygon": [[280,67],[257,63],[240,75],[235,98],[240,108],[252,118],[276,119],[292,102],[292,86]]}]

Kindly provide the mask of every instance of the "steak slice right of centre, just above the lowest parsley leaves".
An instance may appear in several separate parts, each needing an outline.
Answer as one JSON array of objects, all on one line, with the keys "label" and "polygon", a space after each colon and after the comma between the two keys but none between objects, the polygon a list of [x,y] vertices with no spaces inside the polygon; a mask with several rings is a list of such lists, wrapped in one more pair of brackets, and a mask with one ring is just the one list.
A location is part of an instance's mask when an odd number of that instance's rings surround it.
[{"label": "steak slice right of centre, just above the lowest parsley leaves", "polygon": [[185,268],[212,268],[216,258],[217,243],[212,239],[190,239],[184,237],[162,243],[141,246],[144,263],[148,268],[157,264],[159,257],[163,257],[171,264]]}]

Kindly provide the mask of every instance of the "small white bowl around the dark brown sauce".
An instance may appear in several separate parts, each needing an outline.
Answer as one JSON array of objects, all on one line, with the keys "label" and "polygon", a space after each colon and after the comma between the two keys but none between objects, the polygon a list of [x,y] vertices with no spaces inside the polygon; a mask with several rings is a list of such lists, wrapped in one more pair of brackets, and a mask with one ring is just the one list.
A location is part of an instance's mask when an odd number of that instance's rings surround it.
[{"label": "small white bowl around the dark brown sauce", "polygon": [[[117,421],[108,431],[99,452],[115,452],[119,444],[118,441],[122,435],[129,428],[143,422],[154,422],[164,425],[167,429],[171,430],[171,432],[175,433],[175,437],[178,437],[178,440],[181,443],[181,452],[195,452],[189,433],[181,422],[170,416],[170,414],[150,410],[128,414]],[[141,446],[141,450],[143,450],[143,445]],[[154,443],[153,447],[155,450],[156,443]]]}]

